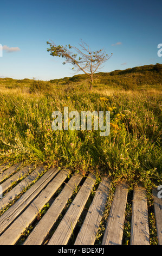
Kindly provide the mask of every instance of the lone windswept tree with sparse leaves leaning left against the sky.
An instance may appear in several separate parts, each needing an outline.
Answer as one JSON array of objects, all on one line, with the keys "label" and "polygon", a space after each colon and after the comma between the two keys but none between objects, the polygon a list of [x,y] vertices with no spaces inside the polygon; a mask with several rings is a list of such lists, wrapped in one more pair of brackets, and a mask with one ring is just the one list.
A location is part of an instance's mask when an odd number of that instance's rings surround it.
[{"label": "lone windswept tree with sparse leaves leaning left against the sky", "polygon": [[96,70],[101,68],[101,65],[106,62],[111,56],[105,54],[103,49],[99,51],[92,51],[88,44],[81,40],[80,49],[71,45],[55,45],[53,42],[48,42],[50,48],[47,51],[51,56],[62,57],[66,59],[66,62],[62,64],[70,63],[73,65],[73,70],[77,72],[82,70],[86,75],[90,76],[90,90],[93,88],[93,74]]}]

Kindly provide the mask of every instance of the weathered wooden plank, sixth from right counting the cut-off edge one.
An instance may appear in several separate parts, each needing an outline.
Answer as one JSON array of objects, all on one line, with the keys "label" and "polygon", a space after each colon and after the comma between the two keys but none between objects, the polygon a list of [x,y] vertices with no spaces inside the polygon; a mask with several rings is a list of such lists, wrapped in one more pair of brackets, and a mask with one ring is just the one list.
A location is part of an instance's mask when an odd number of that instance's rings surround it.
[{"label": "weathered wooden plank, sixth from right counting the cut-off edge one", "polygon": [[48,235],[54,223],[61,214],[64,206],[83,178],[80,174],[74,174],[69,180],[68,184],[63,188],[59,196],[54,200],[54,203],[50,206],[46,214],[43,216],[40,222],[36,225],[34,230],[28,236],[23,245],[42,245],[44,239]]}]

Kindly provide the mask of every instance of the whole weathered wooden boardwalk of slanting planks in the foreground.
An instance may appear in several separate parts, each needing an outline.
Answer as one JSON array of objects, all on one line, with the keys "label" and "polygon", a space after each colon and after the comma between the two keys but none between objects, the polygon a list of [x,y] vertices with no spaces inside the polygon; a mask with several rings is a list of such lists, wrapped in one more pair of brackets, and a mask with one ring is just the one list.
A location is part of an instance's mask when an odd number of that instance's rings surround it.
[{"label": "whole weathered wooden boardwalk of slanting planks in the foreground", "polygon": [[[111,189],[107,177],[96,185],[92,173],[83,177],[68,169],[18,163],[0,166],[0,182],[0,245],[95,245]],[[162,245],[162,200],[157,193],[154,189],[157,237]],[[122,182],[115,188],[101,245],[122,245],[127,197],[128,186]],[[38,220],[47,203],[46,213]],[[33,229],[24,235],[31,225]],[[133,191],[130,243],[150,244],[147,194],[141,184]]]}]

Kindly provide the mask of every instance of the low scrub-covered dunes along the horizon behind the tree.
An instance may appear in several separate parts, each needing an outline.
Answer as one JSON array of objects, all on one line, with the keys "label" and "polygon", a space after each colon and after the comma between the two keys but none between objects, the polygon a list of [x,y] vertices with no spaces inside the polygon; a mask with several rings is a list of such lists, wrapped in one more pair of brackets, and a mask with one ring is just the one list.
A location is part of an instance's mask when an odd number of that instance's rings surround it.
[{"label": "low scrub-covered dunes along the horizon behind the tree", "polygon": [[[36,86],[36,80],[23,79],[23,80],[14,80],[12,78],[0,78],[0,90],[3,89],[16,89],[20,88],[25,89],[26,92],[29,92],[29,87],[32,92],[34,83]],[[64,77],[60,79],[53,79],[50,81],[40,81],[42,87],[50,86],[51,88],[57,86],[67,86],[77,87],[83,84],[88,87],[89,78],[86,74],[74,75],[73,77]],[[137,89],[146,89],[146,88],[161,88],[162,85],[162,64],[155,65],[145,65],[137,66],[132,69],[126,70],[115,70],[112,72],[99,72],[93,75],[93,89],[124,89],[124,90],[137,90]],[[40,86],[39,86],[40,87]],[[88,88],[85,89],[88,89]],[[51,89],[50,88],[50,89]],[[74,89],[73,88],[73,89]],[[39,92],[41,90],[37,89]]]}]

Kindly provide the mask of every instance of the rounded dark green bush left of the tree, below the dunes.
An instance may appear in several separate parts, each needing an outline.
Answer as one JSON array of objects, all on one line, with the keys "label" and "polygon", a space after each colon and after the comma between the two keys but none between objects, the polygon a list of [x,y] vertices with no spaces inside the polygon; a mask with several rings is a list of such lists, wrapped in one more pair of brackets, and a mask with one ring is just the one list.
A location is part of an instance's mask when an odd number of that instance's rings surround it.
[{"label": "rounded dark green bush left of the tree, below the dunes", "polygon": [[30,93],[47,93],[51,92],[52,86],[50,82],[34,80],[30,85]]}]

